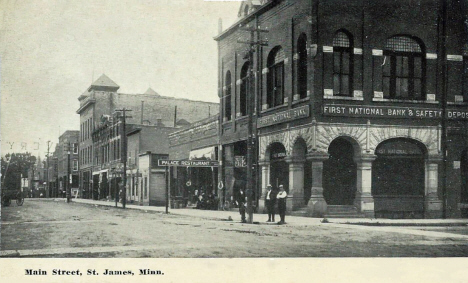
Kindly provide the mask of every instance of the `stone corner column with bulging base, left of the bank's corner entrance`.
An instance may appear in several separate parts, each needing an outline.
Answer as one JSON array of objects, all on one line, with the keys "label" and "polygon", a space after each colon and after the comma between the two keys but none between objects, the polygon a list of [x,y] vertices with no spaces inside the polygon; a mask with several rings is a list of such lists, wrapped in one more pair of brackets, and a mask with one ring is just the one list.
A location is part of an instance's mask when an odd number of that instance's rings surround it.
[{"label": "stone corner column with bulging base, left of the bank's corner entrance", "polygon": [[323,162],[328,159],[327,153],[307,155],[312,161],[312,189],[307,211],[310,216],[323,217],[327,212],[327,202],[323,198]]}]

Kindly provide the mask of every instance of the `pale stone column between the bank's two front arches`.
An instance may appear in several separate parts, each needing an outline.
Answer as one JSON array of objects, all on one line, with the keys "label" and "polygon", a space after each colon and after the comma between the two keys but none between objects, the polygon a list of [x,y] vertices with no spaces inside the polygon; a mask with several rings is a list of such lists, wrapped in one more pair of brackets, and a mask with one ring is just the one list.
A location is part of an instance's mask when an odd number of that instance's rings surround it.
[{"label": "pale stone column between the bank's two front arches", "polygon": [[377,158],[375,155],[363,155],[356,160],[356,197],[354,205],[359,213],[366,217],[374,218],[374,197],[372,196],[372,162]]}]

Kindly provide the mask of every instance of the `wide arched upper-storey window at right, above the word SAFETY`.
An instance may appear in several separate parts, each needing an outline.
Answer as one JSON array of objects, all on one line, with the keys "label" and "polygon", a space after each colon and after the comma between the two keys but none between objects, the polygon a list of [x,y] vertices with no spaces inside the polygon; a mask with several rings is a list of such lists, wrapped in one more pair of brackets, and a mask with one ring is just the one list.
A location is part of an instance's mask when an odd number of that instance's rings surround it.
[{"label": "wide arched upper-storey window at right, above the word SAFETY", "polygon": [[426,59],[422,45],[408,36],[394,36],[387,40],[383,54],[384,97],[425,99]]}]

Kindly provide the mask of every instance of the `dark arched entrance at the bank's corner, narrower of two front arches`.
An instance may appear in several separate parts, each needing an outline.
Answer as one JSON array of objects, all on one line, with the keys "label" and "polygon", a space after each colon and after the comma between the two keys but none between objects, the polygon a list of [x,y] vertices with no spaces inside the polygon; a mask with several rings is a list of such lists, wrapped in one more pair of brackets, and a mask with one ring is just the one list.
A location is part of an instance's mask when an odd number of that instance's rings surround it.
[{"label": "dark arched entrance at the bank's corner, narrower of two front arches", "polygon": [[354,147],[345,138],[335,139],[323,163],[323,197],[329,205],[353,205],[356,196]]}]

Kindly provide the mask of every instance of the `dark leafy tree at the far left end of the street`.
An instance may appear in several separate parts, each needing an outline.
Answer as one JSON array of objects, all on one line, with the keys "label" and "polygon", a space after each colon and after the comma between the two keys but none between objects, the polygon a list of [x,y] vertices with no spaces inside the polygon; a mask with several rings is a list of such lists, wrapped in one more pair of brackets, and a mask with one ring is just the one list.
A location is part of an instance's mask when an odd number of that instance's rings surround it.
[{"label": "dark leafy tree at the far left end of the street", "polygon": [[[8,161],[9,160],[9,161]],[[28,176],[28,170],[36,163],[36,157],[31,153],[8,153],[1,158],[2,185],[6,189],[19,189],[21,175]]]}]

